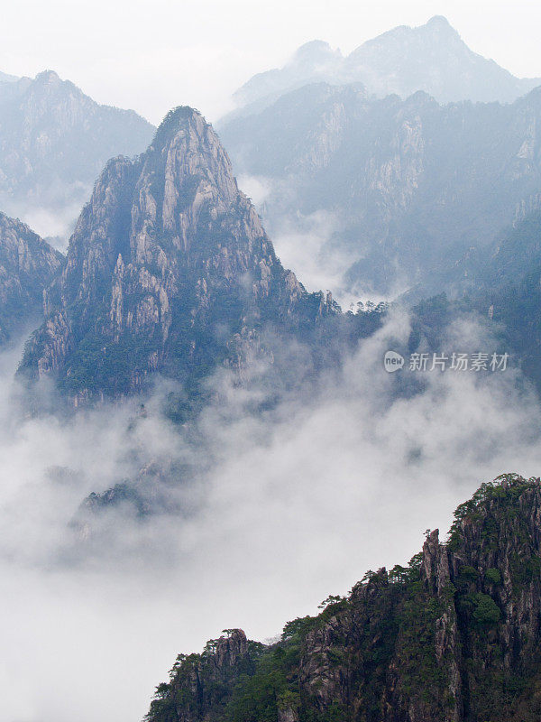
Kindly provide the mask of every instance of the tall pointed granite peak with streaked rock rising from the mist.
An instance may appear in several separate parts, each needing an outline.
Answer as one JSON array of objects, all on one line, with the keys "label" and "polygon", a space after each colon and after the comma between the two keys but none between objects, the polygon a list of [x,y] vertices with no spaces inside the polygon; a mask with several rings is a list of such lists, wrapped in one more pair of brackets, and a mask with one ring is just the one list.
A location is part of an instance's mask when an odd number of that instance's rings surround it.
[{"label": "tall pointed granite peak with streaked rock rising from the mist", "polygon": [[334,306],[282,268],[212,127],[180,107],[146,153],[105,167],[46,309],[23,368],[83,399],[240,366],[258,329]]}]

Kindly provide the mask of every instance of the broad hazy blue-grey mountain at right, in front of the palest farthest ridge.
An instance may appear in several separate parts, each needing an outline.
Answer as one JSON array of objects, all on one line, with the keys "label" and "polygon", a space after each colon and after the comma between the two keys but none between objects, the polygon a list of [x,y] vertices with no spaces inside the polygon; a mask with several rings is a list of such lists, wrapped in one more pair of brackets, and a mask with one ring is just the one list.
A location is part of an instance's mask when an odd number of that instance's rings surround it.
[{"label": "broad hazy blue-grey mountain at right, in front of the palest farthest ridge", "polygon": [[[264,222],[278,236],[324,211],[334,233],[320,259],[348,291],[441,292],[442,267],[486,246],[541,184],[538,88],[512,105],[440,106],[359,86],[300,88],[220,134],[239,174],[271,192]],[[437,281],[436,281],[437,279]],[[430,286],[430,288],[428,288]]]}]

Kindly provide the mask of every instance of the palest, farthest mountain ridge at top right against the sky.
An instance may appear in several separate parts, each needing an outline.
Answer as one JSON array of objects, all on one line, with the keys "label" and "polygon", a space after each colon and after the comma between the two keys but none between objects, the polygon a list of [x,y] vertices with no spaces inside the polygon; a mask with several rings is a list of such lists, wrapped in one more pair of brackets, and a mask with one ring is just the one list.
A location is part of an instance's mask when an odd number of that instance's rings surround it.
[{"label": "palest, farthest mountain ridge at top right against the sky", "polygon": [[281,69],[248,80],[234,94],[240,115],[261,111],[290,90],[315,82],[362,83],[369,94],[405,98],[424,90],[438,102],[509,103],[541,84],[516,78],[471,51],[445,17],[418,27],[400,25],[344,57],[323,41],[307,42]]}]

